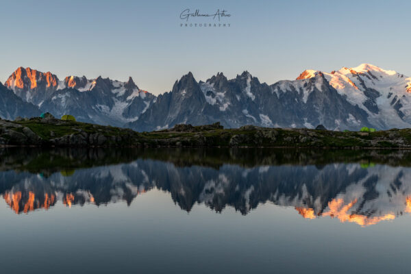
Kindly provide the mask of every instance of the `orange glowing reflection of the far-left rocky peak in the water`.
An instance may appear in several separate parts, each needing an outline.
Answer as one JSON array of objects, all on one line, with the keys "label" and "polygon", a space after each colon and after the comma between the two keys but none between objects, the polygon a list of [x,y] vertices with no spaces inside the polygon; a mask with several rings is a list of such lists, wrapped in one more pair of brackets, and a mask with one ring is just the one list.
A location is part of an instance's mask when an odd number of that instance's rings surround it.
[{"label": "orange glowing reflection of the far-left rocky peak in the water", "polygon": [[38,208],[45,208],[47,210],[55,202],[54,194],[49,195],[48,193],[46,193],[43,197],[44,201],[42,201],[43,199],[36,199],[36,195],[32,191],[29,191],[28,197],[25,197],[25,199],[23,198],[21,191],[14,193],[5,192],[3,198],[5,199],[5,202],[8,203],[10,208],[12,208],[14,212],[16,212],[16,214],[20,214],[21,212],[27,214],[28,212],[36,210]]}]

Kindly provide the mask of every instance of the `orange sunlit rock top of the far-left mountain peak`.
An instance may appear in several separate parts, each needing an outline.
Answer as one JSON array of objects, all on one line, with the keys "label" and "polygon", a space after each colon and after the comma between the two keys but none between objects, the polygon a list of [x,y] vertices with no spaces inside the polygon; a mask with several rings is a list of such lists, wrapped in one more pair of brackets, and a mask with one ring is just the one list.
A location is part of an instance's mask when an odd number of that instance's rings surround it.
[{"label": "orange sunlit rock top of the far-left mountain peak", "polygon": [[58,78],[50,72],[42,73],[35,69],[19,67],[5,82],[5,86],[8,88],[18,88],[21,90],[32,90],[40,85],[47,88],[57,87]]}]

